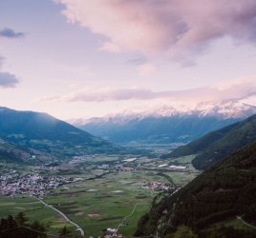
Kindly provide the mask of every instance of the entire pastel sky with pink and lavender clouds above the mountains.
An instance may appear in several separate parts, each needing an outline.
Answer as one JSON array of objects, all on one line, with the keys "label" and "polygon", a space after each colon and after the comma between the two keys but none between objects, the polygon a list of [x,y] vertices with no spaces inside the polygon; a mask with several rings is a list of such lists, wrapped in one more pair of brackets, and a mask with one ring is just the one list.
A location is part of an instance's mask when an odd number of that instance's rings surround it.
[{"label": "entire pastel sky with pink and lavender clouds above the mountains", "polygon": [[256,106],[254,0],[0,0],[0,106],[68,120]]}]

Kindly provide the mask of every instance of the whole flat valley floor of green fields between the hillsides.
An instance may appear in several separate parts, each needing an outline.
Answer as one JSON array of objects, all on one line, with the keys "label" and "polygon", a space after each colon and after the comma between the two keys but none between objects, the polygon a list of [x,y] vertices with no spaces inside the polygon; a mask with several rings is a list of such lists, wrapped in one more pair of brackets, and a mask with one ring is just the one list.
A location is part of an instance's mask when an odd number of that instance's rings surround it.
[{"label": "whole flat valley floor of green fields between the hillsides", "polygon": [[[184,157],[178,163],[146,157],[98,156],[93,161],[75,158],[57,169],[33,169],[34,176],[61,177],[63,185],[37,195],[48,206],[30,197],[30,190],[0,196],[0,216],[23,211],[30,220],[39,220],[53,234],[66,226],[77,235],[84,230],[85,237],[102,236],[107,228],[118,228],[118,233],[131,236],[157,194],[173,192],[198,175],[199,171],[191,166],[192,158]],[[179,166],[185,169],[175,169]],[[22,173],[17,168],[10,169]],[[26,174],[31,169],[25,169]],[[8,169],[2,167],[2,171],[7,173]],[[71,177],[74,181],[68,179]]]}]

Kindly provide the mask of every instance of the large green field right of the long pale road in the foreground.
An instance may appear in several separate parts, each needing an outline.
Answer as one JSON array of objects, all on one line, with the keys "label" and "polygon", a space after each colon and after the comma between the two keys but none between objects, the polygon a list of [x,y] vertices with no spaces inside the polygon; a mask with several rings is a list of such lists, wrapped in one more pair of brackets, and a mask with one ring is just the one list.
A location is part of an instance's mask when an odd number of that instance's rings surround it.
[{"label": "large green field right of the long pale road in the foreground", "polygon": [[[56,191],[45,198],[48,204],[60,209],[84,228],[86,235],[102,235],[106,228],[117,228],[122,218],[129,215],[138,204],[124,235],[132,235],[139,217],[150,207],[155,191],[141,188],[148,181],[163,182],[163,178],[148,172],[123,172],[108,174],[104,178],[77,183],[65,191]],[[90,191],[90,189],[96,189]],[[86,191],[89,190],[89,191]],[[120,191],[120,192],[117,192]]]}]

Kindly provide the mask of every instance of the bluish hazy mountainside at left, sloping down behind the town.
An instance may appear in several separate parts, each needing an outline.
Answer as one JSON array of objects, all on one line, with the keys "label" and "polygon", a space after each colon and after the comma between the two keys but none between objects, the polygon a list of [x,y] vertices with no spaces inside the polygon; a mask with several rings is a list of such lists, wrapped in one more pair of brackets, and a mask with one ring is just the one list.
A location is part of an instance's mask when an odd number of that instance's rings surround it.
[{"label": "bluish hazy mountainside at left, sloping down behind the town", "polygon": [[118,150],[107,141],[46,113],[7,108],[0,108],[0,137],[59,157]]}]

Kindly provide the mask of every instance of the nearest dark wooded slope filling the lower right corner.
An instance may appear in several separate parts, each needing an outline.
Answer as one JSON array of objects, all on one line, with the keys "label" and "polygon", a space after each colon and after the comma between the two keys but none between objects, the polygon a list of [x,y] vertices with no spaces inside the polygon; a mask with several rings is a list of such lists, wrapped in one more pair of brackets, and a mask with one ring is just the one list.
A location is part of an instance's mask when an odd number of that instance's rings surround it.
[{"label": "nearest dark wooded slope filling the lower right corner", "polygon": [[[154,233],[157,226],[161,235],[166,235],[184,225],[200,237],[230,237],[226,235],[228,232],[233,237],[256,237],[256,229],[251,231],[237,219],[240,216],[256,226],[255,214],[256,143],[253,143],[204,171],[172,196],[161,199],[140,219],[136,235]],[[238,222],[248,230],[237,231],[230,225],[227,231],[228,228],[221,227],[227,221]]]}]

